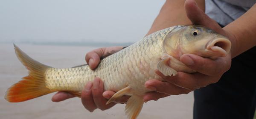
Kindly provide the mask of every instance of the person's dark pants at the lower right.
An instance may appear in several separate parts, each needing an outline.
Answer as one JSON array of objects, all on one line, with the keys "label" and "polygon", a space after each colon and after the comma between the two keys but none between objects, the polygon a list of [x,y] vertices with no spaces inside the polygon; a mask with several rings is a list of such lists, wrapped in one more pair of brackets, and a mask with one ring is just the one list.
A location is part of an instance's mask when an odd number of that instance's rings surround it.
[{"label": "person's dark pants at the lower right", "polygon": [[194,119],[253,119],[256,107],[256,47],[232,59],[229,71],[194,91]]}]

